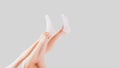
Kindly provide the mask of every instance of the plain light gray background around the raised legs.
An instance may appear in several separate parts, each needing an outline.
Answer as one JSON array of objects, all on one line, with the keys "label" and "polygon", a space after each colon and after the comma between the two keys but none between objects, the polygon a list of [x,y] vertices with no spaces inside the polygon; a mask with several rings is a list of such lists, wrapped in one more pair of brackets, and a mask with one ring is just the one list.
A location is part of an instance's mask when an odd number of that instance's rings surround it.
[{"label": "plain light gray background around the raised legs", "polygon": [[48,68],[120,68],[119,0],[0,0],[0,68],[44,32],[45,14],[58,30],[62,13],[72,32],[47,54]]}]

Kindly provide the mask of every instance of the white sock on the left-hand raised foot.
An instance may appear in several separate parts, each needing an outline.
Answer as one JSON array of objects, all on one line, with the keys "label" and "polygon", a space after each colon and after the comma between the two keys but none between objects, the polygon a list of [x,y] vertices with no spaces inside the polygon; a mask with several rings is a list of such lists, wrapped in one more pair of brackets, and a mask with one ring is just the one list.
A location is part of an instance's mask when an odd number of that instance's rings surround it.
[{"label": "white sock on the left-hand raised foot", "polygon": [[55,34],[55,30],[52,26],[52,22],[51,19],[48,15],[45,15],[45,19],[46,19],[46,32],[49,32],[51,35]]}]

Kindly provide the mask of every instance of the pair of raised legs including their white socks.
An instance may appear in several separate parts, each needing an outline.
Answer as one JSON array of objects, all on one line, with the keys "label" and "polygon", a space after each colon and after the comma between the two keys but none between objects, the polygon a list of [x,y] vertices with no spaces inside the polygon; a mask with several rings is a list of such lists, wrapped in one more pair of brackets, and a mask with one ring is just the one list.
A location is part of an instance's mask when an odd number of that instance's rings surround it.
[{"label": "pair of raised legs including their white socks", "polygon": [[18,68],[23,64],[22,68],[47,68],[45,55],[52,50],[54,43],[64,34],[70,33],[70,26],[67,17],[61,15],[63,19],[62,28],[54,34],[51,20],[48,15],[46,18],[46,32],[42,33],[40,38],[6,68]]}]

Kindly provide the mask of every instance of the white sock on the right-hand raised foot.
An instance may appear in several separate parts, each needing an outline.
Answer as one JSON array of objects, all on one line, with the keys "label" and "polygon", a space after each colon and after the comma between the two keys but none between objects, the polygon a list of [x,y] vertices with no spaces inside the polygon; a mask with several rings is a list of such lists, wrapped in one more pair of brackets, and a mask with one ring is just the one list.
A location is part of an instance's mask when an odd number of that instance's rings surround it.
[{"label": "white sock on the right-hand raised foot", "polygon": [[63,20],[63,31],[65,33],[70,33],[71,29],[70,29],[70,25],[69,25],[67,17],[64,14],[62,14],[61,17],[62,17],[62,20]]}]

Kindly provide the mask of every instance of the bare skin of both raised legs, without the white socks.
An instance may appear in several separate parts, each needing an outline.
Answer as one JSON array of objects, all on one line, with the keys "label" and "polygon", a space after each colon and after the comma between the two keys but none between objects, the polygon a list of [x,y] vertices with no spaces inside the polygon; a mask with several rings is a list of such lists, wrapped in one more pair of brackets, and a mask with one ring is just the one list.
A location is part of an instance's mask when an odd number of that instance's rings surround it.
[{"label": "bare skin of both raised legs, without the white socks", "polygon": [[11,67],[7,68],[18,68],[19,65],[28,59],[24,64],[23,68],[47,68],[45,62],[45,54],[50,52],[54,47],[54,43],[65,34],[64,28],[62,27],[54,36],[51,37],[49,32],[41,34],[40,39],[37,40],[30,48],[23,52],[20,59],[15,62]]}]

